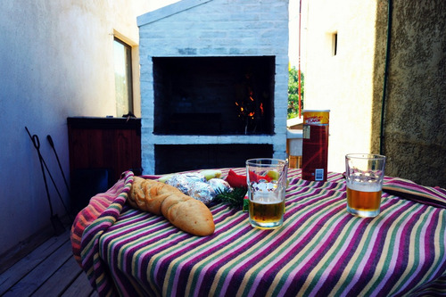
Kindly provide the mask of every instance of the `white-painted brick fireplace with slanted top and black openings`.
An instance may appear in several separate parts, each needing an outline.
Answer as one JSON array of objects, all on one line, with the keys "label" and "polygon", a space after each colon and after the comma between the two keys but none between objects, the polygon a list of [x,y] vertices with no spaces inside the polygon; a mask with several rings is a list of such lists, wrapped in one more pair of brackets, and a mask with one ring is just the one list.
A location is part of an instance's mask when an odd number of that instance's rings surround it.
[{"label": "white-painted brick fireplace with slanted top and black openings", "polygon": [[145,174],[285,158],[288,1],[183,0],[138,26]]}]

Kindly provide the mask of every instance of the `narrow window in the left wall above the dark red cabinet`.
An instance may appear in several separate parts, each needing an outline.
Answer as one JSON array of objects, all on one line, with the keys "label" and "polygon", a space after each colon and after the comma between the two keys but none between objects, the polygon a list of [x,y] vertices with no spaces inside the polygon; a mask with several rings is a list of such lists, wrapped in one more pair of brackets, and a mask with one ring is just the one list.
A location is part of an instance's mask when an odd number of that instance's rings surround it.
[{"label": "narrow window in the left wall above the dark red cabinet", "polygon": [[132,48],[114,38],[113,53],[116,115],[121,117],[133,113]]}]

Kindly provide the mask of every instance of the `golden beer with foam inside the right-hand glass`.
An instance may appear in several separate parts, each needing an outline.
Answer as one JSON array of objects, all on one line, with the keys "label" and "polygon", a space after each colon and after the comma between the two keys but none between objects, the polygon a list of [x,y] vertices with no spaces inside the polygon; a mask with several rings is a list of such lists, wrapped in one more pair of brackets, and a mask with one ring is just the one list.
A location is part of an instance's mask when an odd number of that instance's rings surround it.
[{"label": "golden beer with foam inside the right-hand glass", "polygon": [[375,217],[381,206],[382,186],[379,183],[347,183],[347,206],[360,217]]}]

